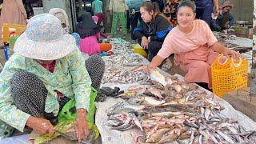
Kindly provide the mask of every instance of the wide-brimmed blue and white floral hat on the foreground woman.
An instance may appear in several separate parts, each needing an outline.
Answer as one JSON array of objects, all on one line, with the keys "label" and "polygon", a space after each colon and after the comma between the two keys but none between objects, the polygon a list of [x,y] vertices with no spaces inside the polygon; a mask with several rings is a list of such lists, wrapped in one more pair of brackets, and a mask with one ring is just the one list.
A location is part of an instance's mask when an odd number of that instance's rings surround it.
[{"label": "wide-brimmed blue and white floral hat on the foreground woman", "polygon": [[26,58],[54,60],[70,54],[76,47],[74,37],[64,34],[61,22],[51,14],[30,19],[26,31],[14,44],[14,52]]}]

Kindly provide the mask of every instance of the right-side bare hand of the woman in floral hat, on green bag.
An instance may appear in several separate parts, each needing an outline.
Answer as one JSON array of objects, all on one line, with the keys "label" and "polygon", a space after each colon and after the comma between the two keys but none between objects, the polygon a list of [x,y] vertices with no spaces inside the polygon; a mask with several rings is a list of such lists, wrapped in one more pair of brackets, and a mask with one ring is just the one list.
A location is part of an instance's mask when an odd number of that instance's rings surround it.
[{"label": "right-side bare hand of the woman in floral hat, on green bag", "polygon": [[77,134],[78,142],[89,136],[89,129],[86,122],[86,110],[79,109],[77,118],[74,121],[74,130]]}]

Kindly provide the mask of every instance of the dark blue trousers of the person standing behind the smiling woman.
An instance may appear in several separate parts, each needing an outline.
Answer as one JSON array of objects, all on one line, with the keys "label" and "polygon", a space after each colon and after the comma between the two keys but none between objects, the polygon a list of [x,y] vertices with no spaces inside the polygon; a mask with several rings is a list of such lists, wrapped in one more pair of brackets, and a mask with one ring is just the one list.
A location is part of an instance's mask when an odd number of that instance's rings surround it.
[{"label": "dark blue trousers of the person standing behind the smiling woman", "polygon": [[209,26],[211,22],[211,13],[214,12],[214,4],[210,2],[204,7],[198,7],[196,9],[196,16],[195,18],[204,20]]}]

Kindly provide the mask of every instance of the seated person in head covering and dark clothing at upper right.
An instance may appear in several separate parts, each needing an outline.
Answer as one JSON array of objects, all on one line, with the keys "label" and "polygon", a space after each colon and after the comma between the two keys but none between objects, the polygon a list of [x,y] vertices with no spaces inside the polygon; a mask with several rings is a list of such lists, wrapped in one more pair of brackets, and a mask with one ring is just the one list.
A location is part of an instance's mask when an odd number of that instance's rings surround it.
[{"label": "seated person in head covering and dark clothing at upper right", "polygon": [[212,14],[210,27],[212,30],[220,31],[230,29],[234,25],[234,17],[230,14],[233,8],[233,3],[230,1],[223,2],[220,14]]}]

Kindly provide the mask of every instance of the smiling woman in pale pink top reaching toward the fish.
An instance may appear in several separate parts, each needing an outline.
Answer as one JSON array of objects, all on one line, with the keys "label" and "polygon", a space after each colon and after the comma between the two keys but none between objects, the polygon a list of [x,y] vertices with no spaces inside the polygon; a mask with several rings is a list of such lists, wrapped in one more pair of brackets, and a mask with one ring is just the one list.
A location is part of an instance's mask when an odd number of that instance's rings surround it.
[{"label": "smiling woman in pale pink top reaching toward the fish", "polygon": [[147,71],[154,70],[170,54],[175,54],[174,63],[186,73],[186,82],[198,82],[204,87],[208,84],[211,88],[210,65],[218,53],[232,55],[233,58],[239,58],[240,54],[219,44],[207,23],[194,18],[194,2],[180,2],[178,26],[166,36],[161,50],[147,66]]}]

